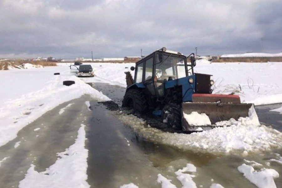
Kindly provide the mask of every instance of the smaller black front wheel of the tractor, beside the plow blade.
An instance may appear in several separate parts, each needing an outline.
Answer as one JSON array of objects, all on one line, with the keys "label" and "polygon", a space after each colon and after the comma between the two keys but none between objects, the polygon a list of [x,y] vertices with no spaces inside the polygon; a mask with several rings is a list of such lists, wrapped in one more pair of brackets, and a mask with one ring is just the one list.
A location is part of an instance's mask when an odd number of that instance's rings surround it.
[{"label": "smaller black front wheel of the tractor, beside the plow blade", "polygon": [[167,124],[168,128],[182,130],[181,125],[181,105],[169,103],[165,105],[162,111],[163,123]]}]

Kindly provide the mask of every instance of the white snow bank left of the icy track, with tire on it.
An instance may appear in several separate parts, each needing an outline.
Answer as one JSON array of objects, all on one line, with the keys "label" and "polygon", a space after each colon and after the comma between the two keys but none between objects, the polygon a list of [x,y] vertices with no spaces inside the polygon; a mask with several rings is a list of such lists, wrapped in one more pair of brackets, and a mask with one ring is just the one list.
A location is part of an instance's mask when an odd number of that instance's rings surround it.
[{"label": "white snow bank left of the icy track, with tire on it", "polygon": [[[7,91],[1,93],[3,98],[0,97],[0,146],[16,138],[19,130],[63,102],[84,94],[89,94],[98,101],[110,100],[76,76],[70,76],[68,69],[58,76],[53,75],[56,70],[56,67],[47,67],[0,72],[3,80],[11,80],[0,83],[3,86],[1,88],[6,88]],[[62,83],[65,80],[76,83],[64,86]]]}]

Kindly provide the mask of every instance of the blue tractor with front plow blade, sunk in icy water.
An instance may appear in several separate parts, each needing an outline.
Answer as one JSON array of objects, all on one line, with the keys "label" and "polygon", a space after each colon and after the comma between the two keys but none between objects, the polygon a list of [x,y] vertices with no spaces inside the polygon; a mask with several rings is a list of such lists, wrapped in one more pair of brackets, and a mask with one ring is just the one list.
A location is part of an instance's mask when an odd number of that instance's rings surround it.
[{"label": "blue tractor with front plow blade, sunk in icy water", "polygon": [[[189,62],[187,62],[187,59]],[[160,50],[136,62],[134,79],[127,74],[123,107],[136,114],[153,113],[169,128],[202,131],[217,122],[248,117],[253,104],[240,102],[237,95],[212,94],[212,75],[194,72],[195,55]]]}]

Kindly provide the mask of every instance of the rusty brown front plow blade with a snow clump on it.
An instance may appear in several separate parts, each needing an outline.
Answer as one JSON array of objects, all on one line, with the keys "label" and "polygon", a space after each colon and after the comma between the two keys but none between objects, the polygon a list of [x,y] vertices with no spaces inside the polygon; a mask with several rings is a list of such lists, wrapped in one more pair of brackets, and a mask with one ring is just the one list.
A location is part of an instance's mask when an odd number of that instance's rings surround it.
[{"label": "rusty brown front plow blade with a snow clump on it", "polygon": [[182,129],[203,131],[220,127],[216,125],[217,122],[248,117],[252,105],[251,103],[183,102]]}]

